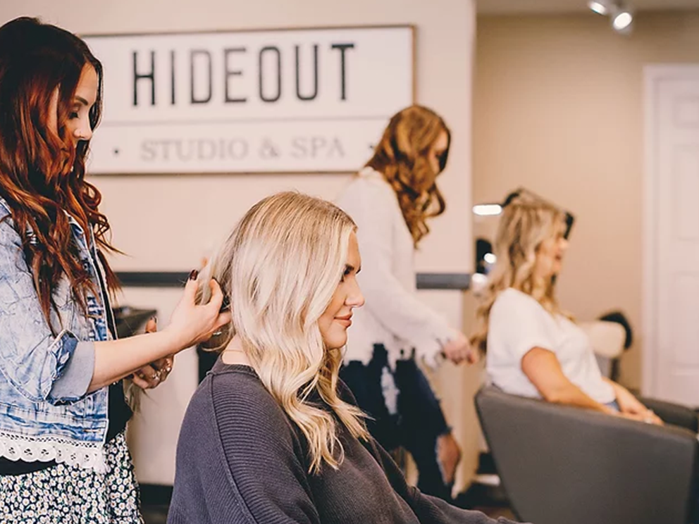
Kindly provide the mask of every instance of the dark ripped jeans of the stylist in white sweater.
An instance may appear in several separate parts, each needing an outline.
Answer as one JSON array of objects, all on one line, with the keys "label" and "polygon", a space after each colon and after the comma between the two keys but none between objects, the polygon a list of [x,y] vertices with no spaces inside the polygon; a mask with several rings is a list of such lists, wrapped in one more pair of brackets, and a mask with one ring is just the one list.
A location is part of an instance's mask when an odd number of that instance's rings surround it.
[{"label": "dark ripped jeans of the stylist in white sweater", "polygon": [[381,386],[384,368],[388,368],[388,354],[382,344],[376,344],[367,366],[350,361],[340,369],[340,378],[371,416],[366,422],[376,441],[388,451],[402,446],[412,455],[420,491],[450,500],[451,486],[443,481],[436,451],[438,437],[450,432],[440,403],[414,358],[400,360],[393,373],[397,413],[391,414]]}]

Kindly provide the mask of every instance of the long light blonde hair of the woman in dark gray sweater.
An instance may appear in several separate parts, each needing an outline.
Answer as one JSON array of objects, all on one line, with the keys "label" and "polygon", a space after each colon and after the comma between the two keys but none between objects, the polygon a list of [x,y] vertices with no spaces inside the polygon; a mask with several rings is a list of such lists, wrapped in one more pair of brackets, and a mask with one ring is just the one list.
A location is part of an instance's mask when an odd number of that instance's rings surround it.
[{"label": "long light blonde hair of the woman in dark gray sweater", "polygon": [[[337,416],[369,439],[364,413],[338,396],[342,348],[326,348],[318,318],[347,263],[352,218],[328,201],[295,192],[268,196],[240,220],[199,277],[209,300],[213,277],[230,301],[232,321],[218,348],[238,335],[260,380],[309,443],[310,473],[338,468],[344,456]],[[332,410],[309,398],[317,394]]]}]

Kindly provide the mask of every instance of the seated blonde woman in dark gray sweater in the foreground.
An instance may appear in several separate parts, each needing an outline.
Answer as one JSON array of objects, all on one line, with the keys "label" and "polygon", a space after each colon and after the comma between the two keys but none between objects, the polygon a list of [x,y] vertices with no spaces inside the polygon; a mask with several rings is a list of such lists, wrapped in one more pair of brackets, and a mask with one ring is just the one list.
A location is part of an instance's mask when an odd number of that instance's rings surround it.
[{"label": "seated blonde woman in dark gray sweater in the foreground", "polygon": [[333,204],[276,194],[204,268],[201,300],[214,277],[233,320],[185,414],[168,523],[495,523],[409,487],[338,381],[364,304],[355,230]]}]

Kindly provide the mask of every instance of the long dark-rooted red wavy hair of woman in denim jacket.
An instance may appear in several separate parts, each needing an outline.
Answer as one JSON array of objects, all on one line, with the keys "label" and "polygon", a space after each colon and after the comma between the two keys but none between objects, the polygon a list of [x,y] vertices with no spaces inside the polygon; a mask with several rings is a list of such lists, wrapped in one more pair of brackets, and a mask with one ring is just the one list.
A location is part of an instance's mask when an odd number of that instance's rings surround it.
[{"label": "long dark-rooted red wavy hair of woman in denim jacket", "polygon": [[[101,194],[85,180],[89,142],[75,145],[66,132],[86,66],[92,66],[99,79],[97,101],[89,111],[94,129],[101,114],[102,66],[87,44],[36,18],[16,18],[0,27],[0,195],[11,208],[49,325],[51,308],[56,306],[53,292],[61,278],[68,278],[83,308],[85,293],[95,289],[77,256],[66,213],[86,234],[94,232],[98,248],[116,251],[106,239],[109,221],[98,211]],[[56,91],[54,116],[49,113]],[[57,126],[50,125],[52,120]],[[98,253],[107,286],[115,290],[116,275]]]}]

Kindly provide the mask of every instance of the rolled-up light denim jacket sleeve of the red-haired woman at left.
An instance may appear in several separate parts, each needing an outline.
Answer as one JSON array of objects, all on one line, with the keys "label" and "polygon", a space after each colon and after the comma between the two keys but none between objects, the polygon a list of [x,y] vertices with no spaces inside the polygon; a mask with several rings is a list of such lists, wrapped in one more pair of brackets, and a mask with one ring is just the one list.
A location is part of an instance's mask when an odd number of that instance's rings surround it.
[{"label": "rolled-up light denim jacket sleeve of the red-haired woman at left", "polygon": [[10,218],[0,220],[0,373],[27,399],[56,404],[51,388],[77,347],[72,332],[51,332],[20,235]]}]

